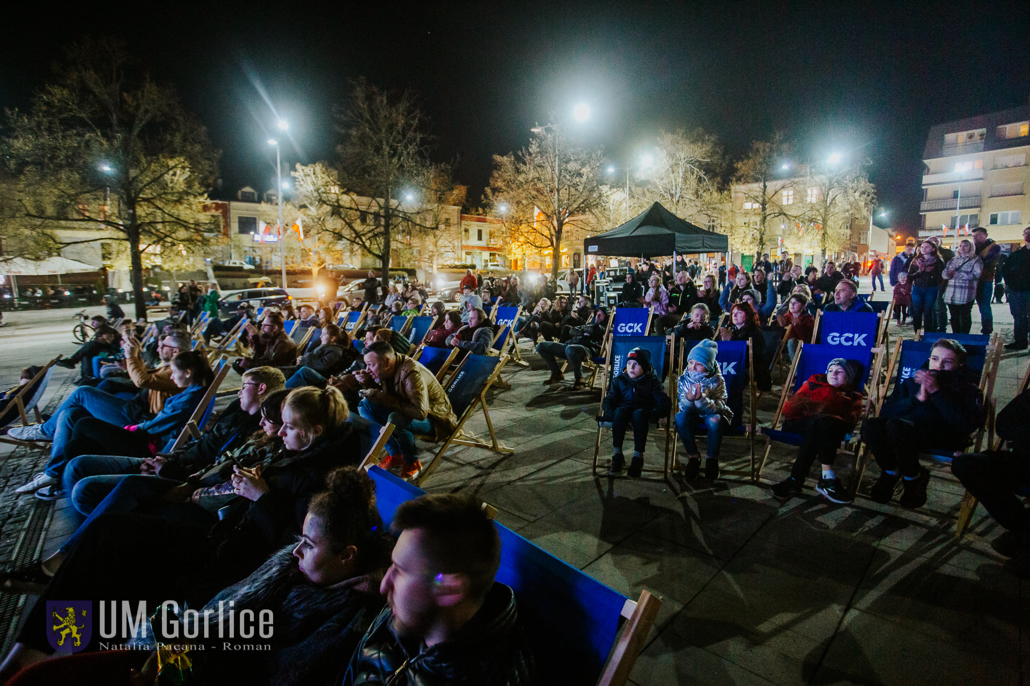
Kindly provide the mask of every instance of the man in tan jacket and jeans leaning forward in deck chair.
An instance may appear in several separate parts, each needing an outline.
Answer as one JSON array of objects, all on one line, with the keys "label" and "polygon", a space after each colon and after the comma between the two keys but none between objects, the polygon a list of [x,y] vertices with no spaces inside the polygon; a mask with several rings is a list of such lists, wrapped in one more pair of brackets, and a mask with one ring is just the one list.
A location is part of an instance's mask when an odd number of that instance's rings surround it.
[{"label": "man in tan jacket and jeans leaning forward in deck chair", "polygon": [[353,374],[362,385],[357,413],[373,425],[373,436],[387,423],[397,427],[386,442],[388,458],[380,466],[400,468],[402,478],[414,478],[422,469],[414,434],[449,435],[457,426],[450,400],[432,371],[398,355],[385,340],[365,349],[365,367]]}]

